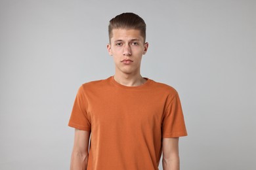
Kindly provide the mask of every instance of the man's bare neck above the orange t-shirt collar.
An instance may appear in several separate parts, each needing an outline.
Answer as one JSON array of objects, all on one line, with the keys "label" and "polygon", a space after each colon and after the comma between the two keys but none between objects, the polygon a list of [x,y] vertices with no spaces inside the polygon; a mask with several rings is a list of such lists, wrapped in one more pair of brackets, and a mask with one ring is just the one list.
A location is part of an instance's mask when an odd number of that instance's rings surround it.
[{"label": "man's bare neck above the orange t-shirt collar", "polygon": [[146,82],[140,74],[138,75],[127,75],[127,74],[116,74],[114,75],[114,80],[123,86],[140,86]]}]

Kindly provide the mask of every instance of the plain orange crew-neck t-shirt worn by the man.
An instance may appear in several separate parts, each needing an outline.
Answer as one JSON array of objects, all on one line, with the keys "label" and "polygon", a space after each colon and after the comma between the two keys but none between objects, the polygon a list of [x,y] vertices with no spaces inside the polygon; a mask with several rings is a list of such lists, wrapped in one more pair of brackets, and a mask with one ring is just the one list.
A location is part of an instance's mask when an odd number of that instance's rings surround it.
[{"label": "plain orange crew-neck t-shirt worn by the man", "polygon": [[146,79],[123,86],[110,76],[79,88],[68,125],[91,131],[87,170],[156,170],[161,139],[187,135],[176,90]]}]

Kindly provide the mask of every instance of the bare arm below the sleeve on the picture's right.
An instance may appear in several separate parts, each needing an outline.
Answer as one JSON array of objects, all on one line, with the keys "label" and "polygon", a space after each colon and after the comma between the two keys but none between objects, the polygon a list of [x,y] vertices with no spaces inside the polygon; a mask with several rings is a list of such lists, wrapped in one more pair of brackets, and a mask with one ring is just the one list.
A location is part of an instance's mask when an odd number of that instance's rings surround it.
[{"label": "bare arm below the sleeve on the picture's right", "polygon": [[179,170],[179,137],[163,138],[163,170]]}]

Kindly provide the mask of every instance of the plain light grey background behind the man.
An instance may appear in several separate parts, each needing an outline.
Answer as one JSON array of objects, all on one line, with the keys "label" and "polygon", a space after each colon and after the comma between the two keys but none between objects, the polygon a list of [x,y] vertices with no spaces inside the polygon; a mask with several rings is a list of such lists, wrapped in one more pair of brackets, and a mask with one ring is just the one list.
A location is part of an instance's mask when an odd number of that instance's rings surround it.
[{"label": "plain light grey background behind the man", "polygon": [[142,75],[180,94],[181,169],[255,169],[255,9],[248,0],[1,0],[0,169],[69,169],[75,94],[114,75],[107,26],[121,12],[147,24]]}]

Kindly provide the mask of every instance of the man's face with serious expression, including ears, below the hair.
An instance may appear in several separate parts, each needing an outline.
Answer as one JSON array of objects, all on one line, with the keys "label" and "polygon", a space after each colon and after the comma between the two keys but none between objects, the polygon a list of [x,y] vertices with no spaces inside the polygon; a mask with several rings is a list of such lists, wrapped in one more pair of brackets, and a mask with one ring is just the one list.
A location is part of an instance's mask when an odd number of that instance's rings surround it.
[{"label": "man's face with serious expression, including ears, below the hair", "polygon": [[140,74],[142,55],[146,54],[148,43],[144,43],[137,29],[113,29],[108,53],[113,56],[116,74]]}]

